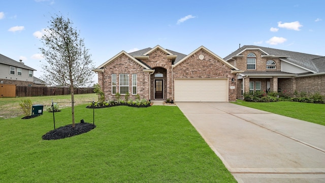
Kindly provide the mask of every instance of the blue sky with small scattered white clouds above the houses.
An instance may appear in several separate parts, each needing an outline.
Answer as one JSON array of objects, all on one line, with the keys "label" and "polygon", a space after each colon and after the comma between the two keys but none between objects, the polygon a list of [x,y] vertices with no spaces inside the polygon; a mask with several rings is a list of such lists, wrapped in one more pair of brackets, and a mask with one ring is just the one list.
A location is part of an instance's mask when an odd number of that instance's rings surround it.
[{"label": "blue sky with small scattered white clouds above the houses", "polygon": [[[52,16],[70,18],[98,67],[120,51],[156,45],[189,54],[205,46],[220,57],[239,44],[325,55],[323,0],[0,2],[0,53],[36,69],[38,37]],[[96,76],[94,77],[96,81]]]}]

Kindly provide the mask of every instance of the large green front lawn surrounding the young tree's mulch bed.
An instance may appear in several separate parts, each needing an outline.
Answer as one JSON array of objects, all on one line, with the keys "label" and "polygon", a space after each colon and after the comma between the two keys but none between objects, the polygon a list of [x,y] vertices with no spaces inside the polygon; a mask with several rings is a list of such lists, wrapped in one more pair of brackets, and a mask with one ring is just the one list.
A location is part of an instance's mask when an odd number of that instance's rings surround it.
[{"label": "large green front lawn surrounding the young tree's mulch bed", "polygon": [[[76,106],[76,123],[93,109]],[[2,182],[236,182],[178,107],[95,109],[96,128],[42,140],[52,113],[0,120]],[[55,113],[71,124],[71,108]]]}]

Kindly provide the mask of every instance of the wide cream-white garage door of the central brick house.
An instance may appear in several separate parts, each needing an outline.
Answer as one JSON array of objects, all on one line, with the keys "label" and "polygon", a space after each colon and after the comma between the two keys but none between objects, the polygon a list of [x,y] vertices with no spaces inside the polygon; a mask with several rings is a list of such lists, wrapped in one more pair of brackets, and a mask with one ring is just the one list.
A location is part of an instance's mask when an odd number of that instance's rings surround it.
[{"label": "wide cream-white garage door of the central brick house", "polygon": [[228,102],[228,79],[175,79],[175,102]]}]

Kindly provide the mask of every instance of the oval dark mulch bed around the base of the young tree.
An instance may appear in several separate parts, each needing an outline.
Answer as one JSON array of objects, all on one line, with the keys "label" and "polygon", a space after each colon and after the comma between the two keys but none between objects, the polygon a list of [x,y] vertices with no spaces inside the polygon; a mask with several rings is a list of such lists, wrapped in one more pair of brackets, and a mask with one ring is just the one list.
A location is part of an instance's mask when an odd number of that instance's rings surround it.
[{"label": "oval dark mulch bed around the base of the young tree", "polygon": [[75,135],[80,135],[94,129],[96,126],[90,123],[77,123],[73,128],[72,125],[66,125],[64,127],[52,130],[42,136],[43,140],[57,140]]}]

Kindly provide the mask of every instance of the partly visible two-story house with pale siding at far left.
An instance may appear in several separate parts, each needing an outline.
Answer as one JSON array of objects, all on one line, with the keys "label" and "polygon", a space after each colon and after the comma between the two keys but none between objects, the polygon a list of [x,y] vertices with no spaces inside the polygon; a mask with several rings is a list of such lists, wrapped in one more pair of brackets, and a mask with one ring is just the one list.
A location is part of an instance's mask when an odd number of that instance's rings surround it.
[{"label": "partly visible two-story house with pale siding at far left", "polygon": [[17,86],[31,86],[34,82],[33,68],[26,66],[22,60],[17,62],[0,54],[0,81],[1,84],[15,84]]}]

